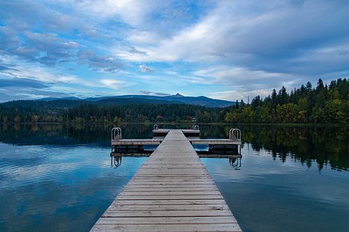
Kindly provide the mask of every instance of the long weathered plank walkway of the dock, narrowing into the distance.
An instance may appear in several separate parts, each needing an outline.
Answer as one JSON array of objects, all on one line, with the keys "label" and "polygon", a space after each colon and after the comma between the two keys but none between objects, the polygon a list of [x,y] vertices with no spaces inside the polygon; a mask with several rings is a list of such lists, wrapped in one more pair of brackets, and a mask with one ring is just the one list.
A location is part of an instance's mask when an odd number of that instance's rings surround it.
[{"label": "long weathered plank walkway of the dock, narrowing into the distance", "polygon": [[181,130],[169,130],[91,231],[241,231]]}]

